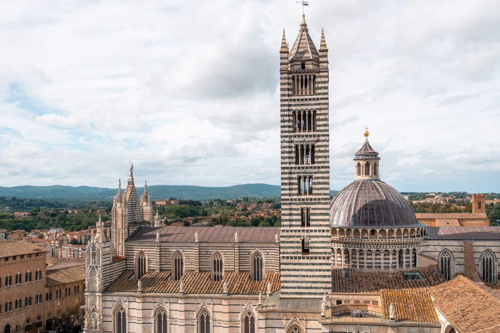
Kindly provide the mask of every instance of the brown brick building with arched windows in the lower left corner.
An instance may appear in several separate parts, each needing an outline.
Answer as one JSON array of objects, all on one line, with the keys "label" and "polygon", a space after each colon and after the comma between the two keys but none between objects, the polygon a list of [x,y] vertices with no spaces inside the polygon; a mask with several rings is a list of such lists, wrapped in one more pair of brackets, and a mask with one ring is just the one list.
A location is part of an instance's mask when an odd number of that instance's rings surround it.
[{"label": "brown brick building with arched windows in the lower left corner", "polygon": [[0,241],[0,332],[42,332],[78,324],[84,304],[83,261],[46,260],[42,248]]}]

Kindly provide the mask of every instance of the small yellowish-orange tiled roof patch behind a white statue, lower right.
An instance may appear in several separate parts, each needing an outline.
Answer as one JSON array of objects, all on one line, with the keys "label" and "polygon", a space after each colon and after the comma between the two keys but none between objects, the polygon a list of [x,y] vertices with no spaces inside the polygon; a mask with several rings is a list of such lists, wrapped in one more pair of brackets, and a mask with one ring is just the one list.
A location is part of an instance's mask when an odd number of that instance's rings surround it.
[{"label": "small yellowish-orange tiled roof patch behind a white statue, lower right", "polygon": [[382,289],[383,318],[389,319],[389,306],[394,304],[397,321],[438,323],[432,299],[423,288]]}]

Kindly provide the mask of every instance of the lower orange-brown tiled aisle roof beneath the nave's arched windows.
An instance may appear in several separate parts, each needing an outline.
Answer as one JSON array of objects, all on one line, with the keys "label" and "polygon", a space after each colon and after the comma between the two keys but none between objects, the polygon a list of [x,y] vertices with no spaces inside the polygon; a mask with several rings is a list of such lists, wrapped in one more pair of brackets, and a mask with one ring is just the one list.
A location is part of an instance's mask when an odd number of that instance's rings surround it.
[{"label": "lower orange-brown tiled aisle roof beneath the nave's arched windows", "polygon": [[[279,273],[265,273],[262,281],[251,281],[249,273],[227,272],[222,281],[210,280],[210,272],[186,271],[181,277],[186,294],[222,294],[222,284],[227,283],[228,294],[257,295],[267,292],[267,282],[271,283],[271,291],[279,289]],[[179,281],[170,280],[169,271],[147,272],[141,279],[144,293],[178,293]],[[133,271],[127,270],[107,289],[113,292],[137,292],[137,280],[133,279]]]}]

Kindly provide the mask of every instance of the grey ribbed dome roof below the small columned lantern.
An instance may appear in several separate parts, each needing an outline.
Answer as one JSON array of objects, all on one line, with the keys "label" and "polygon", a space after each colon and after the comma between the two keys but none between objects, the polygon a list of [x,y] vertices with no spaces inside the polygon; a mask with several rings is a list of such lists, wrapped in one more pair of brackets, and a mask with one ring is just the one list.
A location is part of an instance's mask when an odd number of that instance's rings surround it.
[{"label": "grey ribbed dome roof below the small columned lantern", "polygon": [[330,225],[393,228],[419,226],[409,203],[380,180],[355,180],[330,203]]}]

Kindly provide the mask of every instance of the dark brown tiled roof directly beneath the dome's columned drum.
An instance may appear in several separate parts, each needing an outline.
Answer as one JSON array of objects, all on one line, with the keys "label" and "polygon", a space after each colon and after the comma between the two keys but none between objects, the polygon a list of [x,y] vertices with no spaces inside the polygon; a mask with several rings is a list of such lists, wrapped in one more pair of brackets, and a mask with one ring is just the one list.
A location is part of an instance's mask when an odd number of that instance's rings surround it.
[{"label": "dark brown tiled roof directly beneath the dome's columned drum", "polygon": [[[342,278],[340,272],[341,269],[331,271],[333,289],[336,293],[374,293],[382,289],[423,288],[446,281],[434,268],[404,271],[351,270],[347,278]],[[423,280],[406,280],[402,272],[420,272]]]}]

